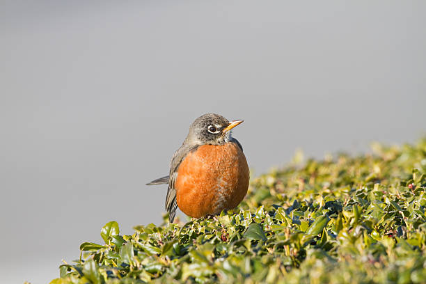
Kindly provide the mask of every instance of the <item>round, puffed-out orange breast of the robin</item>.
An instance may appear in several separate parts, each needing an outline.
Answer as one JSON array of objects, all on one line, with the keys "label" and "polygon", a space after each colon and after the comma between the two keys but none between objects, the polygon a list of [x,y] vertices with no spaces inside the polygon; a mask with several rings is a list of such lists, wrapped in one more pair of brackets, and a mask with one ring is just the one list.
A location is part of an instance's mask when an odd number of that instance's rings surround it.
[{"label": "round, puffed-out orange breast of the robin", "polygon": [[196,218],[232,209],[246,196],[249,178],[246,157],[235,143],[201,145],[178,168],[178,206]]}]

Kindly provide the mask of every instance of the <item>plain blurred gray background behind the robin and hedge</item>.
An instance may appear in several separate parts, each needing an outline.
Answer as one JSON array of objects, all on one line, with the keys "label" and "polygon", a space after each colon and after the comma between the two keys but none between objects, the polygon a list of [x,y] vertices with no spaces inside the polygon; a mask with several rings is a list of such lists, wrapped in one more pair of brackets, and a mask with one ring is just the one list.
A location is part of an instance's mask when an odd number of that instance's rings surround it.
[{"label": "plain blurred gray background behind the robin and hedge", "polygon": [[203,113],[246,120],[252,175],[425,130],[425,1],[0,5],[1,283],[47,283],[107,221],[160,223],[145,182]]}]

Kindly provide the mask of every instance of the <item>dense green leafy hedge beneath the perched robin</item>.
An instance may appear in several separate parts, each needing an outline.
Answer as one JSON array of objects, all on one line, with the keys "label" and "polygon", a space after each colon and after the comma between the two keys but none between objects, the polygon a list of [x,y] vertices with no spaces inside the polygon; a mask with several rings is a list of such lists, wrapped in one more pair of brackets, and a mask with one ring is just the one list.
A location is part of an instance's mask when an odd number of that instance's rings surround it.
[{"label": "dense green leafy hedge beneath the perched robin", "polygon": [[234,212],[81,244],[57,283],[425,283],[426,139],[296,163]]}]

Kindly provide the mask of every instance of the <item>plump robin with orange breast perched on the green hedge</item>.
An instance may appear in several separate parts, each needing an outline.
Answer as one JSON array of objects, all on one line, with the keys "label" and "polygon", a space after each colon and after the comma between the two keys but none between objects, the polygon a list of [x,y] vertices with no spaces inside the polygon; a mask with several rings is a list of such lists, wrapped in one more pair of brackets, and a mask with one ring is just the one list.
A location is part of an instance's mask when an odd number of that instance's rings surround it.
[{"label": "plump robin with orange breast perched on the green hedge", "polygon": [[231,129],[243,121],[207,113],[191,124],[171,159],[169,175],[148,183],[168,184],[169,221],[177,207],[200,218],[235,208],[244,199],[250,171],[242,145],[231,136]]}]

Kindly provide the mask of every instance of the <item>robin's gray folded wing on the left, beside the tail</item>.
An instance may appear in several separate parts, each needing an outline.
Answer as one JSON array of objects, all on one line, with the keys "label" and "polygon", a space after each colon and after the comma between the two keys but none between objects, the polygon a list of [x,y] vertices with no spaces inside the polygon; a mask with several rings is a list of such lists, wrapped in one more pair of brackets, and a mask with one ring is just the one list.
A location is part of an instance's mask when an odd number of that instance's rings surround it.
[{"label": "robin's gray folded wing on the left, beside the tail", "polygon": [[170,178],[168,179],[168,188],[166,196],[166,210],[168,211],[168,221],[173,222],[175,219],[176,209],[178,209],[178,203],[176,202],[176,189],[175,181],[178,178],[178,168],[182,159],[191,151],[198,147],[198,145],[182,145],[175,152],[170,163]]}]

